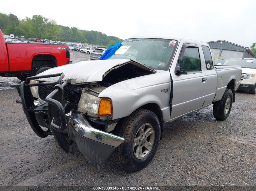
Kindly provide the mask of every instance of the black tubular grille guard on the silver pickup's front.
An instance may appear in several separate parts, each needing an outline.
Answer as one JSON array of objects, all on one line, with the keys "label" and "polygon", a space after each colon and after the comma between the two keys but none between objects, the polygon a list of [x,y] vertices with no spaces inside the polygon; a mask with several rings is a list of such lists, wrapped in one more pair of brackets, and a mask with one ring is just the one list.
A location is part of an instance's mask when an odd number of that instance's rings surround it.
[{"label": "black tubular grille guard on the silver pickup's front", "polygon": [[[51,77],[58,77],[58,82],[41,82],[41,83],[31,83],[29,81],[32,79],[42,79],[42,78],[51,78]],[[49,122],[52,129],[62,132],[66,129],[67,120],[65,114],[65,107],[68,103],[64,103],[64,91],[63,88],[67,85],[66,81],[62,81],[64,78],[64,73],[58,73],[53,75],[39,75],[39,76],[31,76],[26,79],[26,81],[22,81],[21,84],[12,84],[12,88],[17,88],[19,93],[19,99],[16,100],[17,103],[22,103],[22,109],[28,119],[28,122],[34,132],[39,137],[46,137],[47,135],[51,134],[50,131],[44,131],[38,125],[34,110],[36,108],[44,105],[42,103],[38,106],[34,104],[34,97],[30,90],[32,86],[47,86],[47,85],[55,85],[52,92],[45,98],[48,104],[48,116]]]}]

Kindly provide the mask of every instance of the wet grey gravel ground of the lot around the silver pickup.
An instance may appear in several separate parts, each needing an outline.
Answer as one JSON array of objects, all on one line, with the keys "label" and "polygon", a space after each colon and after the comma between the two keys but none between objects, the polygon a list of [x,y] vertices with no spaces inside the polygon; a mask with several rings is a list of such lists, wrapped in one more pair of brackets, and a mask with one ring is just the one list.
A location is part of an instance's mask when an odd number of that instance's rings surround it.
[{"label": "wet grey gravel ground of the lot around the silver pickup", "polygon": [[[88,58],[71,51],[73,62]],[[255,95],[238,92],[225,121],[209,106],[172,122],[151,163],[129,173],[112,155],[97,169],[53,136],[39,138],[15,103],[17,91],[7,89],[19,80],[0,81],[0,185],[256,185]]]}]

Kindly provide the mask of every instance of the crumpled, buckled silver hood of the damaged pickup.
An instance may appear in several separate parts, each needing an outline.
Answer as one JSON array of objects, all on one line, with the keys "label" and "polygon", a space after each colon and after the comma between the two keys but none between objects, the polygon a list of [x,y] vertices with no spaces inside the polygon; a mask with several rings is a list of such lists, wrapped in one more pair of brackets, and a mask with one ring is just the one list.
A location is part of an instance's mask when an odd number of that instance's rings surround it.
[{"label": "crumpled, buckled silver hood of the damaged pickup", "polygon": [[[145,71],[155,73],[156,71],[148,68],[147,66],[140,64],[133,60],[128,59],[109,59],[109,60],[94,60],[94,61],[82,61],[75,64],[63,65],[55,68],[51,68],[38,74],[40,75],[51,75],[57,73],[64,73],[65,77],[63,81],[67,81],[71,84],[87,83],[102,81],[102,79],[112,70],[119,68],[125,64],[136,65]],[[54,82],[58,81],[58,77],[51,78],[38,78],[40,81]]]}]

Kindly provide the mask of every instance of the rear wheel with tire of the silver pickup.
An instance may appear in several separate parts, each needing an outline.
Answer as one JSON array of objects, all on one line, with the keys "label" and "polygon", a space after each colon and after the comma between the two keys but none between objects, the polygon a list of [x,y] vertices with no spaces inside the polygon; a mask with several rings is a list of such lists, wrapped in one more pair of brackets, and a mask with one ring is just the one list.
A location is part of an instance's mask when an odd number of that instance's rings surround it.
[{"label": "rear wheel with tire of the silver pickup", "polygon": [[226,89],[221,100],[213,103],[213,115],[221,121],[228,118],[233,103],[233,93],[231,89]]}]

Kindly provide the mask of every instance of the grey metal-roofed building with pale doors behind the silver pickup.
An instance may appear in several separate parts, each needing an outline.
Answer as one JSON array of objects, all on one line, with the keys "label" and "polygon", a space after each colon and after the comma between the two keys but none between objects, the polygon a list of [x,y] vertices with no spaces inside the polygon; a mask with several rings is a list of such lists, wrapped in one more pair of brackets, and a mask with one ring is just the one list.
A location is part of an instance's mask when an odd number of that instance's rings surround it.
[{"label": "grey metal-roofed building with pale doors behind the silver pickup", "polygon": [[253,58],[254,53],[248,48],[226,40],[216,40],[207,42],[211,48],[211,53],[216,59],[227,60],[229,58]]}]

